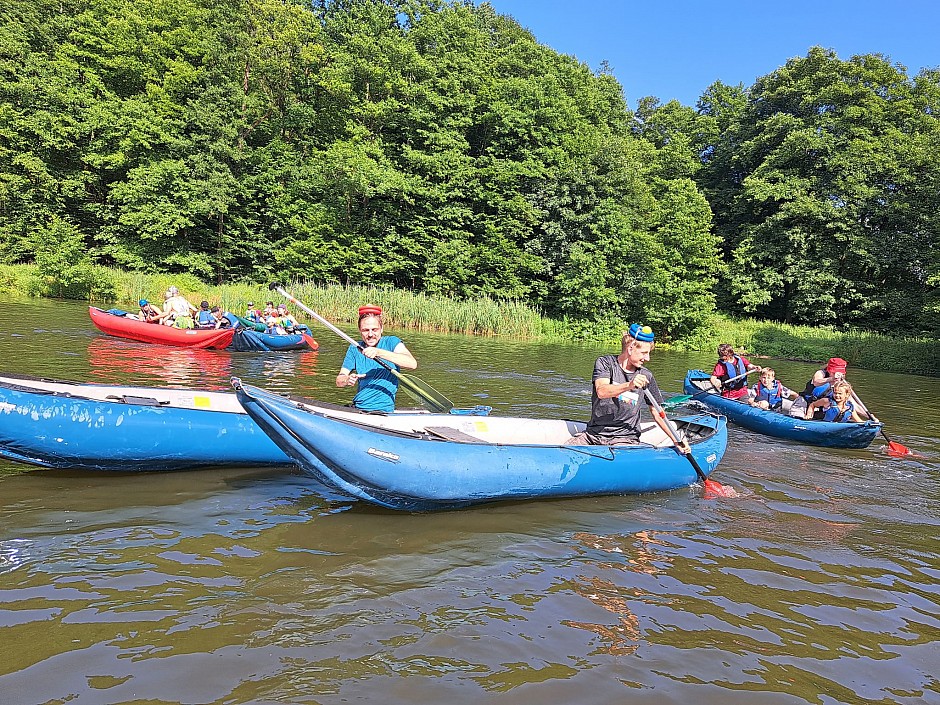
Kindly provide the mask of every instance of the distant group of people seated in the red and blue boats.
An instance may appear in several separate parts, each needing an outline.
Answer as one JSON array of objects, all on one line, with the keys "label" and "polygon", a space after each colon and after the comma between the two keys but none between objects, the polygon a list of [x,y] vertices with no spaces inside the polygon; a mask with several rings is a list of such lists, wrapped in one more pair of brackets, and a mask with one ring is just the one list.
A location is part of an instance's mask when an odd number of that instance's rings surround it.
[{"label": "distant group of people seated in the red and blue boats", "polygon": [[[157,323],[176,328],[238,328],[242,325],[234,313],[226,311],[219,306],[209,306],[208,301],[202,301],[199,308],[193,306],[179,289],[171,286],[163,294],[163,308],[141,299],[140,312],[137,318],[147,323]],[[287,311],[287,306],[280,304],[275,307],[273,301],[268,301],[264,311],[255,308],[254,302],[248,302],[248,311],[245,318],[252,323],[261,323],[266,333],[287,335],[299,326],[297,320]]]}]

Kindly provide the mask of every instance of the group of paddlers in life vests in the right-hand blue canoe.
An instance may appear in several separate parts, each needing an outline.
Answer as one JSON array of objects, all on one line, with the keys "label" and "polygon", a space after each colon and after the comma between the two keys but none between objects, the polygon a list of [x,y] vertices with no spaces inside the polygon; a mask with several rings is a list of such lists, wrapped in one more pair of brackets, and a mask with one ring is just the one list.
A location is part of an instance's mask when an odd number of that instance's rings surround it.
[{"label": "group of paddlers in life vests in the right-hand blue canoe", "polygon": [[[776,378],[770,367],[751,363],[738,355],[727,343],[718,346],[718,362],[712,370],[711,383],[726,399],[751,406],[783,411],[784,401],[793,400],[787,410],[790,416],[806,420],[836,423],[863,423],[853,399],[852,385],[845,379],[847,363],[840,357],[830,358],[826,366],[816,370],[802,392],[788,389]],[[759,381],[748,387],[747,376],[759,371]]]}]

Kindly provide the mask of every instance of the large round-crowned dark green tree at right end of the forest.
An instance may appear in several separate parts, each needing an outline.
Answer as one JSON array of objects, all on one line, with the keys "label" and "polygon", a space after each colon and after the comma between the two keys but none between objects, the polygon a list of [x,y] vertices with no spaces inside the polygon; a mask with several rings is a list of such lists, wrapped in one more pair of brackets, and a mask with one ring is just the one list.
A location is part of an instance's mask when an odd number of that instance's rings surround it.
[{"label": "large round-crowned dark green tree at right end of the forest", "polygon": [[916,214],[936,199],[912,196],[935,172],[936,115],[925,89],[879,55],[841,61],[814,48],[759,79],[715,145],[730,165],[725,188],[706,188],[723,199],[738,309],[915,327],[935,238]]}]

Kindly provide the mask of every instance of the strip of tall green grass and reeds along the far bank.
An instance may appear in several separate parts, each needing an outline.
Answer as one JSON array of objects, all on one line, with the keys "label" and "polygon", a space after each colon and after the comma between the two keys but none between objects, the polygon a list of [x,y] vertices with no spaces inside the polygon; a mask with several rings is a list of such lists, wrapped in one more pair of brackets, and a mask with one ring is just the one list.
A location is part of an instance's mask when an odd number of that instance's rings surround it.
[{"label": "strip of tall green grass and reeds along the far bank", "polygon": [[[30,265],[0,265],[0,292],[12,296],[40,295],[37,271]],[[135,309],[137,300],[163,301],[163,292],[171,285],[194,304],[202,299],[234,313],[244,312],[249,301],[283,301],[267,287],[244,283],[211,286],[189,275],[141,274],[103,267],[95,268],[102,281],[98,291],[108,293],[105,301],[92,303]],[[609,321],[594,328],[583,322],[546,318],[525,304],[515,301],[478,299],[455,301],[442,296],[428,296],[403,289],[362,286],[314,286],[288,284],[288,291],[321,316],[334,323],[354,323],[356,309],[374,303],[385,310],[389,327],[428,332],[492,335],[552,341],[585,340],[619,345],[623,323]],[[295,312],[299,313],[299,312]],[[753,319],[729,319],[715,316],[709,327],[694,338],[673,341],[677,350],[714,352],[720,343],[752,355],[823,361],[838,356],[852,367],[891,372],[940,376],[940,341],[930,338],[894,338],[865,331],[837,331],[832,328],[791,326]]]}]

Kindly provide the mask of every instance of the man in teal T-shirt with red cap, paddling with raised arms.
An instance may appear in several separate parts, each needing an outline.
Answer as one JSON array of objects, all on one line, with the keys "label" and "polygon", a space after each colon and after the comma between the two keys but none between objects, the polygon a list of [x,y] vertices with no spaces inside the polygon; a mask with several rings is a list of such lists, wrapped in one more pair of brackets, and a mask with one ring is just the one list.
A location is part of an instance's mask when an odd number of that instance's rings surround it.
[{"label": "man in teal T-shirt with red cap, paddling with raised arms", "polygon": [[359,307],[358,345],[350,345],[343,366],[336,375],[337,387],[359,385],[352,405],[364,411],[394,411],[398,393],[398,377],[377,360],[384,360],[395,369],[414,370],[418,361],[394,335],[383,336],[382,309],[379,306]]}]

